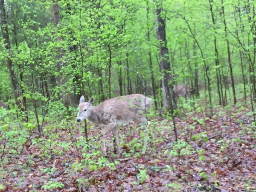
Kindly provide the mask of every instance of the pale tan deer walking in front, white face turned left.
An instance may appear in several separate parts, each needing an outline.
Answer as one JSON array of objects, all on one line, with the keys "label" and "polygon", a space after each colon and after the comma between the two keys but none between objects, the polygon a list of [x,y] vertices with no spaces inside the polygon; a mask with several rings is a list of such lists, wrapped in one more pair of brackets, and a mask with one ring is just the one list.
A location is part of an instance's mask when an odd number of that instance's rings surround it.
[{"label": "pale tan deer walking in front, white face turned left", "polygon": [[85,102],[84,96],[81,96],[79,101],[79,110],[77,115],[77,122],[84,119],[100,125],[104,124],[102,129],[102,155],[107,156],[105,146],[105,134],[112,131],[115,138],[117,156],[121,155],[118,142],[118,128],[119,125],[135,121],[140,123],[145,129],[145,139],[143,143],[142,154],[145,154],[147,147],[148,131],[146,111],[151,108],[151,98],[141,94],[131,94],[126,96],[119,96],[112,99],[107,99],[97,106],[93,106],[94,98],[91,97],[88,102]]}]

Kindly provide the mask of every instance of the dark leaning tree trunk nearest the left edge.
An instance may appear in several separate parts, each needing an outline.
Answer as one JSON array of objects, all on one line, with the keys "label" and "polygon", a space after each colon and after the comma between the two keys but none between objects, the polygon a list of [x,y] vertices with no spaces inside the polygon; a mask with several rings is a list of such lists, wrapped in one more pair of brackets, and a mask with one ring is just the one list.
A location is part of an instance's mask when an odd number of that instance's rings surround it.
[{"label": "dark leaning tree trunk nearest the left edge", "polygon": [[8,51],[8,56],[6,57],[7,68],[9,69],[9,76],[11,80],[12,90],[14,94],[15,103],[21,111],[24,111],[23,102],[19,99],[22,96],[20,91],[20,86],[17,83],[16,74],[14,71],[14,65],[12,63],[12,48],[9,39],[8,25],[6,20],[6,12],[4,6],[4,0],[0,0],[0,21],[1,21],[1,32],[3,43],[5,45],[5,49]]}]

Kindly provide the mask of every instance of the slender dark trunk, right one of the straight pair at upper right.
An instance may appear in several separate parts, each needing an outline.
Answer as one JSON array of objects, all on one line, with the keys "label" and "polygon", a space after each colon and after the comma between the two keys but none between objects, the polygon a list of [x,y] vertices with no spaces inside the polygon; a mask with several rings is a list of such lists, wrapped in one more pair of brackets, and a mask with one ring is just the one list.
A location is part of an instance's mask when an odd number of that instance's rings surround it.
[{"label": "slender dark trunk, right one of the straight pair at upper right", "polygon": [[229,64],[229,67],[230,67],[230,78],[231,78],[231,84],[232,84],[233,99],[234,99],[234,104],[236,105],[236,90],[235,90],[235,83],[234,83],[234,78],[233,78],[233,70],[232,70],[232,64],[231,64],[231,58],[230,58],[229,40],[227,38],[227,24],[226,24],[226,19],[225,19],[223,0],[221,0],[221,3],[222,3],[223,23],[224,23],[224,26],[225,26],[224,32],[225,32],[225,38],[226,38],[226,42],[227,42],[227,56],[228,56],[228,64]]}]

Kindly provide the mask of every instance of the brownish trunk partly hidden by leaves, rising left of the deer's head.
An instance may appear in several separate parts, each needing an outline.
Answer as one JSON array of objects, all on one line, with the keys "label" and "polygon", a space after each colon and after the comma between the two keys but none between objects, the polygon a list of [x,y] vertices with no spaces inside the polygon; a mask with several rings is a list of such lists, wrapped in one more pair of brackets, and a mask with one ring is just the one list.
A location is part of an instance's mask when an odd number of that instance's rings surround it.
[{"label": "brownish trunk partly hidden by leaves, rising left of the deer's head", "polygon": [[[55,27],[58,27],[58,24],[61,23],[58,1],[59,0],[55,0],[54,3],[53,3],[53,13],[54,13],[54,25],[55,25]],[[61,36],[59,36],[57,38],[57,41],[58,42],[61,41]],[[62,52],[61,46],[58,45],[58,55],[57,55],[57,58],[58,58],[58,65],[57,65],[58,73],[61,73],[61,67],[63,65],[63,62],[60,61],[61,58],[62,58],[61,52]],[[66,90],[67,87],[64,84],[67,82],[67,77],[64,77],[63,79],[58,78],[57,80],[63,86],[63,89]],[[70,94],[69,93],[66,93],[66,94],[63,93],[62,102],[63,102],[63,105],[65,106],[65,108],[67,109],[67,113],[69,115],[71,115],[71,111],[68,110],[69,106],[71,105],[71,99],[70,99]]]}]

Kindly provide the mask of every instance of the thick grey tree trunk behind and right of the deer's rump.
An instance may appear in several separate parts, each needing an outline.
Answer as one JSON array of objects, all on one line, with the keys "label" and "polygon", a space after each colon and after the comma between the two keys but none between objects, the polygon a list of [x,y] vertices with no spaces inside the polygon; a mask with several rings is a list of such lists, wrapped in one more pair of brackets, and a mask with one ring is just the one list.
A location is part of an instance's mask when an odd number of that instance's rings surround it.
[{"label": "thick grey tree trunk behind and right of the deer's rump", "polygon": [[[165,20],[163,19],[162,11],[163,7],[160,0],[153,0],[156,5],[156,33],[157,40],[160,41],[159,45],[159,57],[160,57],[160,71],[162,73],[162,91],[163,91],[163,100],[164,108],[167,110],[173,111],[177,108],[175,101],[174,91],[173,91],[173,82],[170,61],[169,61],[169,51],[167,49],[167,40],[166,40],[166,27]],[[174,104],[174,105],[173,105]]]}]

